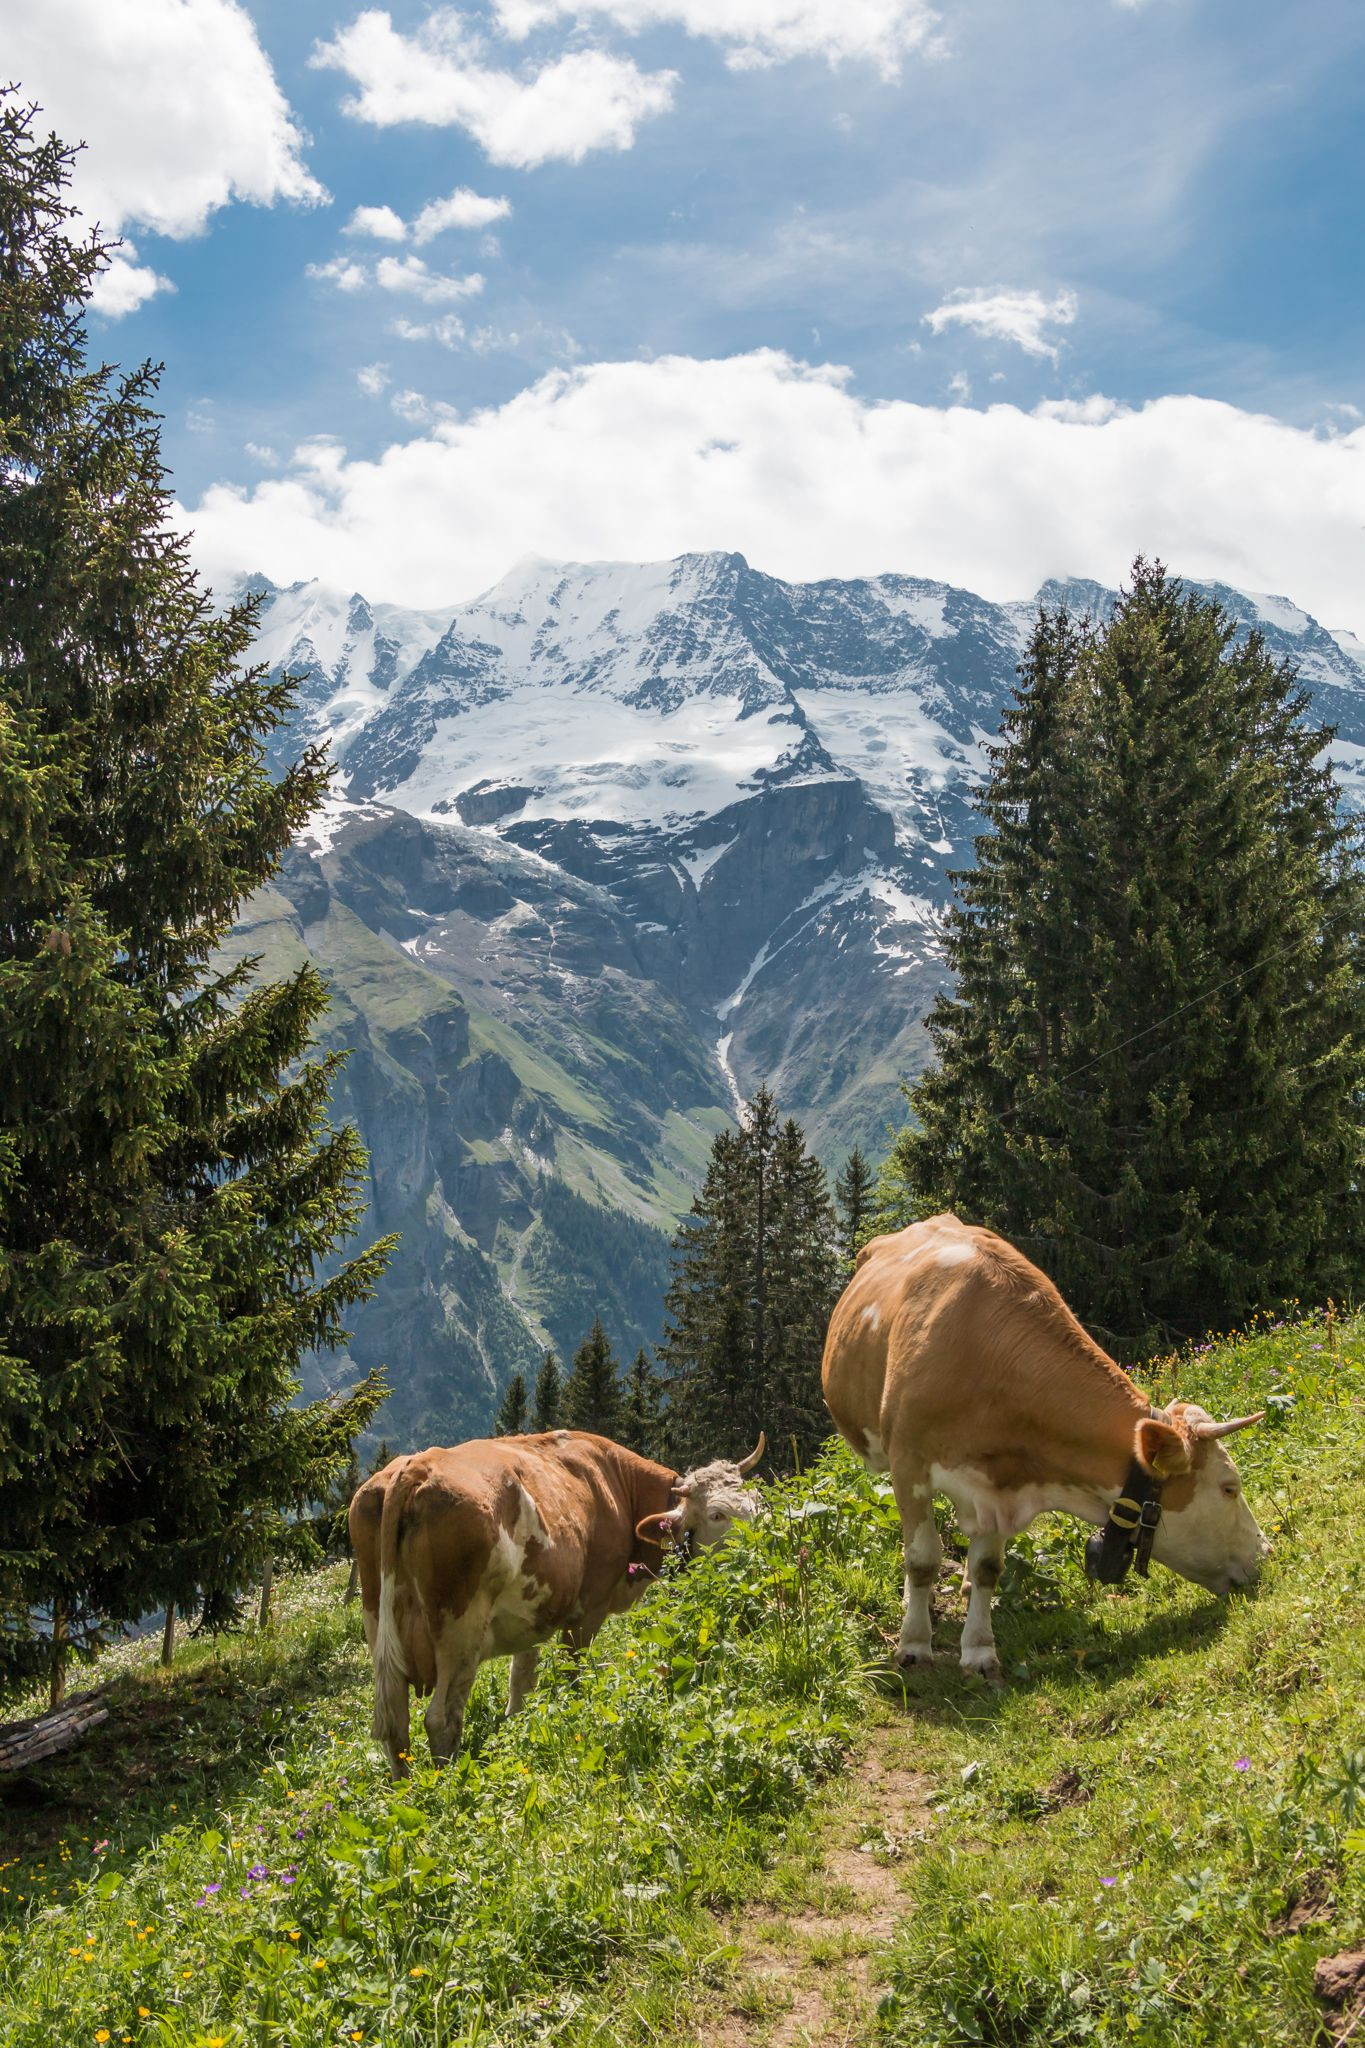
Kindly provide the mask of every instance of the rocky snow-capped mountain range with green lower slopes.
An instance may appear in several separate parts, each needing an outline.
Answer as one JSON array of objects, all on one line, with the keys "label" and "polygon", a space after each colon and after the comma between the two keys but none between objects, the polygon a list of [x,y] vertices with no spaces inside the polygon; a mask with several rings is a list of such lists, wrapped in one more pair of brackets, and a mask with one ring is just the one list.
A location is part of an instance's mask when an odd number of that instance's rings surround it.
[{"label": "rocky snow-capped mountain range with green lower slopes", "polygon": [[[653,1233],[596,1298],[569,1274],[608,1217],[688,1206],[759,1079],[827,1159],[880,1149],[1038,600],[1113,602],[784,584],[741,555],[526,561],[442,612],[252,588],[260,659],[301,678],[280,754],[327,741],[340,774],[248,936],[332,975],[377,1217],[424,1247],[409,1368],[430,1378],[444,1343],[469,1382],[424,1397],[444,1419],[604,1296],[622,1341],[657,1335]],[[1285,598],[1218,596],[1297,664],[1365,807],[1365,647]]]}]

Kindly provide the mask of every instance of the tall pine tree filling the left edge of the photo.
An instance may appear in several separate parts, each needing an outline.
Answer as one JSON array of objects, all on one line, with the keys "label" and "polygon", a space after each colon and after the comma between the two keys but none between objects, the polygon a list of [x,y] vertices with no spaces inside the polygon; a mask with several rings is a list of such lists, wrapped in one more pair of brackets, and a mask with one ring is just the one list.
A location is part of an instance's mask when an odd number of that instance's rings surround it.
[{"label": "tall pine tree filling the left edge of the photo", "polygon": [[291,686],[168,526],[156,373],[86,365],[70,160],[0,100],[0,1677],[229,1620],[383,1399],[295,1407],[387,1255],[336,1260],[325,987],[213,965],[327,770],[262,766]]}]

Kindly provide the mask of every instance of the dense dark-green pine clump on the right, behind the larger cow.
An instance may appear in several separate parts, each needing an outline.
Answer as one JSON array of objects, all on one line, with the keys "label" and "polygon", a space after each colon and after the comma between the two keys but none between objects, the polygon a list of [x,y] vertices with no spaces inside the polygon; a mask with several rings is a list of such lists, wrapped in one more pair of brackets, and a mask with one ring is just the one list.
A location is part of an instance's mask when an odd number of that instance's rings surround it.
[{"label": "dense dark-green pine clump on the right, behind the larger cow", "polygon": [[1040,618],[892,1206],[993,1223],[1142,1356],[1359,1286],[1365,879],[1295,672],[1140,561]]}]

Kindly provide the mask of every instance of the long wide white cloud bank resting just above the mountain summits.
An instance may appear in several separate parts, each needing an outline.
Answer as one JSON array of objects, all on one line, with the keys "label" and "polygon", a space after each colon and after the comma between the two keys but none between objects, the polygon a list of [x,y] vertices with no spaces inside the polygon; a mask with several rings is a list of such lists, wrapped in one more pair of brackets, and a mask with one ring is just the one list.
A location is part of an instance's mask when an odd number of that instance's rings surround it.
[{"label": "long wide white cloud bank resting just above the mountain summits", "polygon": [[778,575],[902,569],[1017,598],[1048,575],[1115,582],[1146,549],[1365,633],[1365,428],[1316,436],[1201,397],[1095,418],[872,403],[776,350],[555,371],[377,461],[313,444],[182,516],[213,580],[321,575],[405,604],[467,598],[528,551],[733,547]]}]

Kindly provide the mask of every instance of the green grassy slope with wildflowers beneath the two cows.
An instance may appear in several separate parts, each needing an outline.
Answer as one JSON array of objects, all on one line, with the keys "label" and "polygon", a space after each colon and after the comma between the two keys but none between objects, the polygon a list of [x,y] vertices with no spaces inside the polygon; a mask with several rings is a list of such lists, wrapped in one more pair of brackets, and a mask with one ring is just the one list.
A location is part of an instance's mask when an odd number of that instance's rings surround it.
[{"label": "green grassy slope with wildflowers beneath the two cows", "polygon": [[999,1694],[870,1667],[894,1526],[843,1454],[612,1624],[577,1688],[551,1659],[518,1724],[485,1671],[473,1753],[432,1774],[417,1739],[399,1790],[338,1571],[170,1675],[113,1653],[108,1726],[0,1808],[0,2040],[688,2040],[729,1968],[714,1909],[780,1888],[814,1784],[892,1712],[937,1798],[896,1866],[886,2040],[1312,2040],[1314,1958],[1365,1935],[1365,1327],[1232,1339],[1179,1391],[1277,1401],[1240,1454],[1263,1587],[1091,1589],[1078,1532],[1040,1524]]}]

